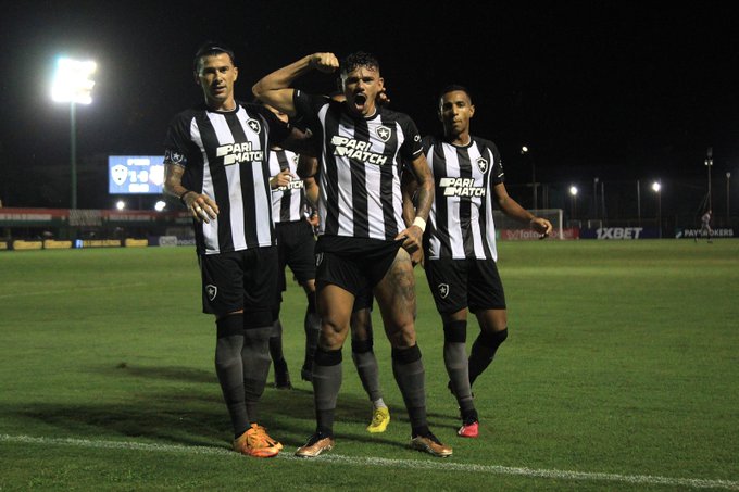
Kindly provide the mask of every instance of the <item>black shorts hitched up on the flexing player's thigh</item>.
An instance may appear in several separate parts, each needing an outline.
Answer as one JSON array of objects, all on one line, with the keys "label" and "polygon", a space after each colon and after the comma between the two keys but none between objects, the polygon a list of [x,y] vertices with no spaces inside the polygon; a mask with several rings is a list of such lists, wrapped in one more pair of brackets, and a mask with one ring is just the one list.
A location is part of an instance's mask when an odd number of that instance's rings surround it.
[{"label": "black shorts hitched up on the flexing player's thigh", "polygon": [[320,237],[315,244],[316,290],[333,283],[364,299],[365,306],[372,305],[372,289],[390,269],[401,244],[402,241]]}]

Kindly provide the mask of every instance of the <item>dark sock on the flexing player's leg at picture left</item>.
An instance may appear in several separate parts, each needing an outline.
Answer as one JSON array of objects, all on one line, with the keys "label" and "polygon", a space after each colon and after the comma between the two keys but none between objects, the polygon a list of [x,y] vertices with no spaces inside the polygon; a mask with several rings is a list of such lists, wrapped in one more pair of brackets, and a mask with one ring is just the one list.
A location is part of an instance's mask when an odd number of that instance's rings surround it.
[{"label": "dark sock on the flexing player's leg at picture left", "polygon": [[334,434],[334,411],[341,388],[341,349],[317,348],[313,361],[313,400],[318,432]]}]

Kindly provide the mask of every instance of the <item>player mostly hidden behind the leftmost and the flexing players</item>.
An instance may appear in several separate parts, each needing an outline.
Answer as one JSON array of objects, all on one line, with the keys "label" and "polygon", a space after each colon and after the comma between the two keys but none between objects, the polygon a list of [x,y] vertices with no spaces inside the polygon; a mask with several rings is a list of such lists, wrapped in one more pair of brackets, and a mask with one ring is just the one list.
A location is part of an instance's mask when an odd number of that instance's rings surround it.
[{"label": "player mostly hidden behind the leftmost and the flexing players", "polygon": [[[288,123],[287,114],[266,106],[280,121]],[[305,358],[301,369],[302,379],[311,379],[311,366],[321,320],[315,308],[315,236],[313,226],[304,213],[309,203],[318,200],[318,187],[312,177],[301,179],[297,175],[300,159],[313,159],[299,155],[279,146],[270,149],[270,184],[272,187],[272,215],[277,234],[277,251],[279,261],[279,297],[275,312],[272,337],[270,337],[270,354],[275,368],[275,387],[292,388],[287,362],[283,354],[283,324],[279,320],[281,292],[287,288],[285,268],[290,270],[298,283],[305,291],[308,307],[303,317],[305,332]]]}]

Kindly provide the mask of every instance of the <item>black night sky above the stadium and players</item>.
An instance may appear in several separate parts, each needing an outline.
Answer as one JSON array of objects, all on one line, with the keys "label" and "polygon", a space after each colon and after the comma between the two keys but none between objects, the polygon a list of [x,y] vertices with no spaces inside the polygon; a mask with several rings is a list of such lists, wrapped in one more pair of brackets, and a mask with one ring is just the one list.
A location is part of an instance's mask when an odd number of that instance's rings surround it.
[{"label": "black night sky above the stadium and players", "polygon": [[[530,180],[522,146],[541,181],[702,179],[709,147],[717,175],[739,176],[731,2],[449,3],[2,1],[0,198],[68,205],[68,106],[49,98],[58,55],[98,62],[95,101],[77,112],[77,154],[105,166],[109,154],[162,153],[171,117],[202,98],[191,61],[206,39],[235,49],[245,100],[304,54],[369,51],[392,109],[424,135],[440,128],[438,91],[465,85],[473,134],[498,144],[509,182]],[[335,87],[325,75],[299,86]],[[80,194],[104,195],[102,186]]]}]

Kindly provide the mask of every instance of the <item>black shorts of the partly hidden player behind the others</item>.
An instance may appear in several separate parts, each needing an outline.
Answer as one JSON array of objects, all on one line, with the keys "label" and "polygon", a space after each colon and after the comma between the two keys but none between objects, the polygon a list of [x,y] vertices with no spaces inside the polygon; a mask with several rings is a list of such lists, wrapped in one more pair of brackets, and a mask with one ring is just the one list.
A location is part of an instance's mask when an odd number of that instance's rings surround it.
[{"label": "black shorts of the partly hidden player behind the others", "polygon": [[279,251],[279,291],[287,289],[285,267],[289,266],[296,280],[304,286],[315,278],[315,237],[308,220],[275,224]]}]

